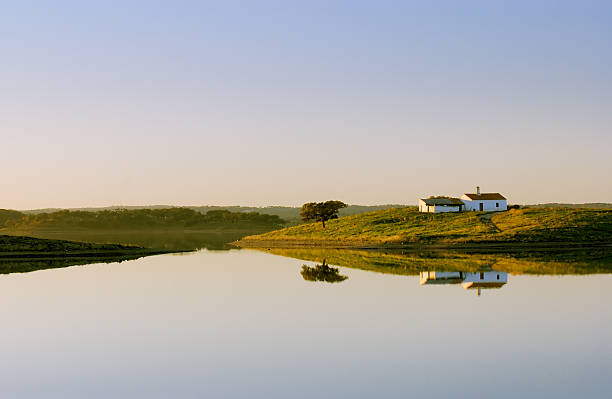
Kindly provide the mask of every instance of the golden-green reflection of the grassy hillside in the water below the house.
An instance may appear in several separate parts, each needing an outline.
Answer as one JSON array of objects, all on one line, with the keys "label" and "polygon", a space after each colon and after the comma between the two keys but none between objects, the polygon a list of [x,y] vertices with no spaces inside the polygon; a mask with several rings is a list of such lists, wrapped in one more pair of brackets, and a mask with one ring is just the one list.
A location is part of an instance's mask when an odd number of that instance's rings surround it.
[{"label": "golden-green reflection of the grassy hillside in the water below the house", "polygon": [[580,250],[512,254],[463,252],[401,252],[326,248],[272,248],[266,252],[291,258],[379,273],[416,275],[423,271],[476,272],[495,270],[512,274],[612,273],[612,252]]}]

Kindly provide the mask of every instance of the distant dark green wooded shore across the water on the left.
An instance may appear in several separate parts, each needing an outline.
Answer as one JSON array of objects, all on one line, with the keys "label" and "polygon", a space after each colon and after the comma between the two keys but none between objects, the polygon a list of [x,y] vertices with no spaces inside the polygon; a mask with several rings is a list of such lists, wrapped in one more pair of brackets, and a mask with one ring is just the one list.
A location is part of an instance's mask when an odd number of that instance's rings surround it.
[{"label": "distant dark green wooded shore across the water on the left", "polygon": [[0,210],[0,227],[31,229],[241,229],[278,228],[287,222],[277,215],[258,212],[210,210],[201,213],[189,208],[113,209],[96,212],[61,210],[26,214]]}]

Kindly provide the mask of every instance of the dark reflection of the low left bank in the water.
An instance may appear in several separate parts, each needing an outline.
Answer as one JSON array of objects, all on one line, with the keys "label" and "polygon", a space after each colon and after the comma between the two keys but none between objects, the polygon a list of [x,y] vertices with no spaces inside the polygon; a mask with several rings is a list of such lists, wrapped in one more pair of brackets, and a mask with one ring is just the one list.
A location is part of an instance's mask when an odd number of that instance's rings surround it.
[{"label": "dark reflection of the low left bank in the water", "polygon": [[0,274],[28,273],[36,270],[59,269],[68,266],[88,265],[92,263],[116,263],[134,260],[142,256],[122,256],[113,258],[49,258],[49,259],[2,259]]}]

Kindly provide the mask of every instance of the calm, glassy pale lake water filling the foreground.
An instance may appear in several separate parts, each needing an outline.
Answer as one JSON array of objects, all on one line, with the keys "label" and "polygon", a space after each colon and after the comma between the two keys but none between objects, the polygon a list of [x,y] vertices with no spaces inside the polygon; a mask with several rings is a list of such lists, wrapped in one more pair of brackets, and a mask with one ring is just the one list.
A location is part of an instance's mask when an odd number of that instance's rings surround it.
[{"label": "calm, glassy pale lake water filling the foreground", "polygon": [[361,265],[336,283],[304,279],[308,254],[254,250],[0,275],[1,396],[609,397],[605,270],[386,274],[347,253],[326,255]]}]

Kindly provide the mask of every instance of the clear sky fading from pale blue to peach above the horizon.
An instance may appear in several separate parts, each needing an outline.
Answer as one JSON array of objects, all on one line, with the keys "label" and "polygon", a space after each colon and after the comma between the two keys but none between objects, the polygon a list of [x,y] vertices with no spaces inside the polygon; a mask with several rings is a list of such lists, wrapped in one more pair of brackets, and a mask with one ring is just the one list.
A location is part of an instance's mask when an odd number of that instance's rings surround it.
[{"label": "clear sky fading from pale blue to peach above the horizon", "polygon": [[0,208],[612,202],[609,1],[0,5]]}]

